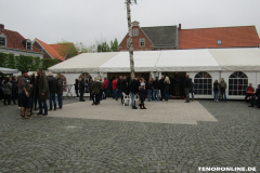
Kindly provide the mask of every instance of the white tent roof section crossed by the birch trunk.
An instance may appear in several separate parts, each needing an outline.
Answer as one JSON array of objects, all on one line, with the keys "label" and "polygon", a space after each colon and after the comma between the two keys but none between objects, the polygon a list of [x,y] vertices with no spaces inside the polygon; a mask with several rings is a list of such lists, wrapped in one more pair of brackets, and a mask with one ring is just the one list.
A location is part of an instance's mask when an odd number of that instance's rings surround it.
[{"label": "white tent roof section crossed by the birch trunk", "polygon": [[[133,52],[134,70],[156,71],[156,63],[160,51],[138,51]],[[120,52],[100,67],[102,72],[130,72],[129,52]]]}]

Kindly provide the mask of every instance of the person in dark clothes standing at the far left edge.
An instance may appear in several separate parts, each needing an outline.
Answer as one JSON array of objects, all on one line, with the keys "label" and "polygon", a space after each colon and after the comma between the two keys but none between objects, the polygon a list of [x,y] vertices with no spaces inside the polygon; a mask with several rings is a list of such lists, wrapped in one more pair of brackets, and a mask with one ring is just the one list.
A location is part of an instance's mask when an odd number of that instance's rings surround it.
[{"label": "person in dark clothes standing at the far left edge", "polygon": [[[11,105],[11,97],[12,97],[12,78],[6,77],[5,80],[2,82],[3,89],[3,105]],[[8,102],[8,104],[6,104]]]}]

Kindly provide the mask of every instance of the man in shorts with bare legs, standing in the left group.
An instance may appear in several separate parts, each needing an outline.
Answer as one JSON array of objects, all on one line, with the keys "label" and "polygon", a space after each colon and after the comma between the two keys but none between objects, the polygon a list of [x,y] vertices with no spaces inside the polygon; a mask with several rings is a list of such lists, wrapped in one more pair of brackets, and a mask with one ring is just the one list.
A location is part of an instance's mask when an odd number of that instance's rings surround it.
[{"label": "man in shorts with bare legs, standing in the left group", "polygon": [[22,76],[18,80],[18,94],[21,102],[21,116],[25,118],[25,109],[27,110],[27,118],[32,118],[30,115],[30,86],[28,81],[28,71],[22,70]]}]

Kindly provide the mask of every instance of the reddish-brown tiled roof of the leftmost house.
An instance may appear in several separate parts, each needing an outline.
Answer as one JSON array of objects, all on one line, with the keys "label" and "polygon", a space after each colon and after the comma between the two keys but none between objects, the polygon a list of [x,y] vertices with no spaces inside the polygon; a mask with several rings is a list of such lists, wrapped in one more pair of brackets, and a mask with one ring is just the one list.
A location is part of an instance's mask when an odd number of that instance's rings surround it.
[{"label": "reddish-brown tiled roof of the leftmost house", "polygon": [[[8,29],[0,28],[0,35],[4,34],[6,36],[6,48],[18,49],[23,51],[32,51],[32,52],[40,52],[36,46],[32,45],[32,50],[26,50],[26,45],[24,41],[26,40],[22,35],[17,31],[12,31]],[[32,44],[32,42],[31,42]]]}]

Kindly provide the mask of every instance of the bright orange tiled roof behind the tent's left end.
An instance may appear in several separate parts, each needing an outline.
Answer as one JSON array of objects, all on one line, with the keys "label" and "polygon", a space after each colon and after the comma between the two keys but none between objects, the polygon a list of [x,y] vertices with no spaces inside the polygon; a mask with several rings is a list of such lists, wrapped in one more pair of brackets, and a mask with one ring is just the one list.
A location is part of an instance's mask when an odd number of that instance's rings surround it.
[{"label": "bright orange tiled roof behind the tent's left end", "polygon": [[61,49],[62,45],[58,45],[58,44],[47,44],[46,42],[39,40],[39,39],[36,39],[40,44],[41,46],[43,46],[43,49],[53,57],[53,58],[56,58],[58,61],[65,61],[65,56],[62,56],[60,55],[58,53],[58,49]]}]

